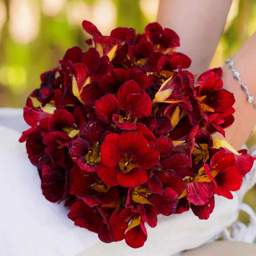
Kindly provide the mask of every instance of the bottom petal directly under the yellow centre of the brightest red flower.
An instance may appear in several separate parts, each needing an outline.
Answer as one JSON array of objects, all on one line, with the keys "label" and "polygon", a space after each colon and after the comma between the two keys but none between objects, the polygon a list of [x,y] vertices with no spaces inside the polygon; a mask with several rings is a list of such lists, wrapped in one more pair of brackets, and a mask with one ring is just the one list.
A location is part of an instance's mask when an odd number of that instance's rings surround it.
[{"label": "bottom petal directly under the yellow centre of the brightest red flower", "polygon": [[117,173],[117,182],[123,187],[139,186],[146,181],[147,172],[141,167],[133,168],[130,172],[127,173],[120,171]]}]

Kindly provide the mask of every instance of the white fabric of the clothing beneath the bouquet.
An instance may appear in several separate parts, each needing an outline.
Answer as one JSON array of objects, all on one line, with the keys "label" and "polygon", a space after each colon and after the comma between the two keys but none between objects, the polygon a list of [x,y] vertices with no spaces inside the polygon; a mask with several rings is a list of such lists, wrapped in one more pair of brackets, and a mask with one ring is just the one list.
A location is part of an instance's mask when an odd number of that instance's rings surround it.
[{"label": "white fabric of the clothing beneath the bouquet", "polygon": [[68,209],[42,195],[36,167],[26,155],[25,144],[18,142],[27,128],[22,110],[0,109],[0,125],[1,255],[69,256],[84,250],[86,256],[167,256],[213,240],[237,219],[237,193],[233,200],[215,196],[215,209],[208,220],[199,220],[192,211],[159,216],[157,227],[147,228],[144,247],[132,249],[124,241],[104,244],[97,234],[74,226],[66,217]]}]

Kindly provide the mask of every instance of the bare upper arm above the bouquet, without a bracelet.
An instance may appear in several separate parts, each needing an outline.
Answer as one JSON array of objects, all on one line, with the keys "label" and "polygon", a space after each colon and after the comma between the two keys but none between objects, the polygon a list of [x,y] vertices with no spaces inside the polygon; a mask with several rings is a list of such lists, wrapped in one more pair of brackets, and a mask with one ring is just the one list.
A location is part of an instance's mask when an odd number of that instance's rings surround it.
[{"label": "bare upper arm above the bouquet, without a bracelet", "polygon": [[180,36],[179,51],[192,59],[190,71],[208,69],[232,0],[160,0],[157,21]]}]

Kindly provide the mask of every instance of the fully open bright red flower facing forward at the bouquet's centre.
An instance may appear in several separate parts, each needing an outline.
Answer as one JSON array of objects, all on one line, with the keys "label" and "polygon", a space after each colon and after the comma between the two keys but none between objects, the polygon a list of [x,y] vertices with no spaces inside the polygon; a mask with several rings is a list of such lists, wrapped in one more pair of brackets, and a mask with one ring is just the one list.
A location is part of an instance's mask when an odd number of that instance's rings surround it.
[{"label": "fully open bright red flower facing forward at the bouquet's centre", "polygon": [[153,168],[158,159],[158,151],[142,133],[113,133],[101,145],[101,165],[97,172],[109,186],[138,186],[147,181],[146,170]]}]

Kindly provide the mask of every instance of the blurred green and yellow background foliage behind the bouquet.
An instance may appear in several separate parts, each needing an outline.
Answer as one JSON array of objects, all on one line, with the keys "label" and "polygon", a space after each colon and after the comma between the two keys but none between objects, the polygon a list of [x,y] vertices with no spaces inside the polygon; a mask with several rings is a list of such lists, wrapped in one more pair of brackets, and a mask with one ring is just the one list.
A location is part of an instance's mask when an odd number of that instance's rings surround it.
[{"label": "blurred green and yellow background foliage behind the bouquet", "polygon": [[[22,107],[39,87],[39,75],[55,68],[66,49],[86,50],[84,19],[105,35],[116,26],[142,32],[156,20],[158,4],[159,0],[0,0],[0,107]],[[256,1],[233,0],[211,66],[221,66],[255,30]],[[249,147],[256,144],[254,130]],[[256,209],[256,187],[245,201]],[[248,221],[246,214],[240,218]]]}]

